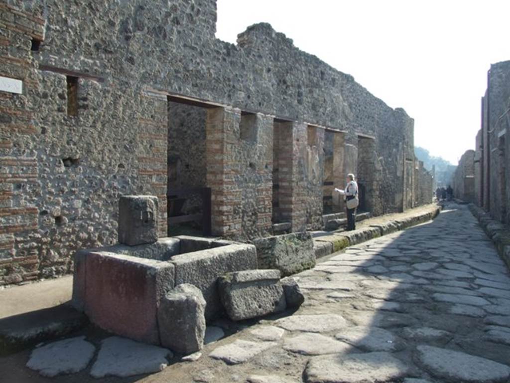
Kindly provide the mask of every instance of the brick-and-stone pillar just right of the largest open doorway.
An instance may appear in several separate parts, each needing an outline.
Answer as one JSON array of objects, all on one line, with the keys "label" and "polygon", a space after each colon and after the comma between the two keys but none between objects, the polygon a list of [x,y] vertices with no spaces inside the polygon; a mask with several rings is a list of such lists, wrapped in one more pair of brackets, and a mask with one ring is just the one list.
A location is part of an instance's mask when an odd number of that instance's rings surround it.
[{"label": "brick-and-stone pillar just right of the largest open doorway", "polygon": [[211,108],[206,118],[207,185],[211,188],[213,235],[240,236],[242,195],[235,183],[233,152],[239,137],[241,112],[233,108]]}]

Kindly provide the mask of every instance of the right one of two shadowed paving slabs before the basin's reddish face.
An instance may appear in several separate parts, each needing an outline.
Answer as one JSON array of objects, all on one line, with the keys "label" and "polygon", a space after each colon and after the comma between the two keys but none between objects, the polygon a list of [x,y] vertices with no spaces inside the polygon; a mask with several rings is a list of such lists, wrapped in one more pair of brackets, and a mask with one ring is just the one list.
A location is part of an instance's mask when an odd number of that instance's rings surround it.
[{"label": "right one of two shadowed paving slabs before the basin's reddish face", "polygon": [[95,378],[105,376],[132,376],[162,371],[173,354],[166,348],[139,343],[130,339],[110,337],[101,342],[90,375]]}]

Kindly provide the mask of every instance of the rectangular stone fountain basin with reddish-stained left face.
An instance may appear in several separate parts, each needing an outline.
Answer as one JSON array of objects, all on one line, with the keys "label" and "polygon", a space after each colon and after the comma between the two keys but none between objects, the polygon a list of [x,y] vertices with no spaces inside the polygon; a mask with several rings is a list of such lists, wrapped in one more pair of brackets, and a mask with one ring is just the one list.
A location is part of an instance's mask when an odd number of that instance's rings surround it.
[{"label": "rectangular stone fountain basin with reddish-stained left face", "polygon": [[81,250],[74,256],[72,301],[105,330],[159,344],[157,310],[169,290],[194,284],[207,302],[206,319],[217,318],[223,311],[218,277],[252,269],[257,269],[253,245],[202,237]]}]

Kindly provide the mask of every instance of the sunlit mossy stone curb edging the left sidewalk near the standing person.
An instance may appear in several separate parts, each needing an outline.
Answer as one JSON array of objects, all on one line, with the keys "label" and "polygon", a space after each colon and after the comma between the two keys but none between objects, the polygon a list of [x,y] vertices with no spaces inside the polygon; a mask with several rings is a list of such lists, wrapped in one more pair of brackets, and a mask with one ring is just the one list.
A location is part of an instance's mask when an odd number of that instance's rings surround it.
[{"label": "sunlit mossy stone curb edging the left sidewalk near the standing person", "polygon": [[333,232],[330,235],[314,238],[315,257],[321,258],[326,255],[336,253],[346,247],[358,245],[382,235],[405,230],[412,226],[425,223],[436,218],[440,211],[441,206],[437,206],[432,211],[420,213],[416,216],[388,221],[384,224],[370,225],[368,227],[349,232]]}]

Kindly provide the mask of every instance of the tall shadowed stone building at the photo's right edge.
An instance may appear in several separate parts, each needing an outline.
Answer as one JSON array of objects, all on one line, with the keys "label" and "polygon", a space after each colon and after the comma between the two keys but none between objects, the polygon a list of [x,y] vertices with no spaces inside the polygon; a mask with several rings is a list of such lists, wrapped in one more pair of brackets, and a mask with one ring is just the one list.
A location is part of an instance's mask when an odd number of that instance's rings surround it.
[{"label": "tall shadowed stone building at the photo's right edge", "polygon": [[474,155],[478,205],[501,222],[510,222],[510,61],[492,64],[482,97],[481,129]]}]

